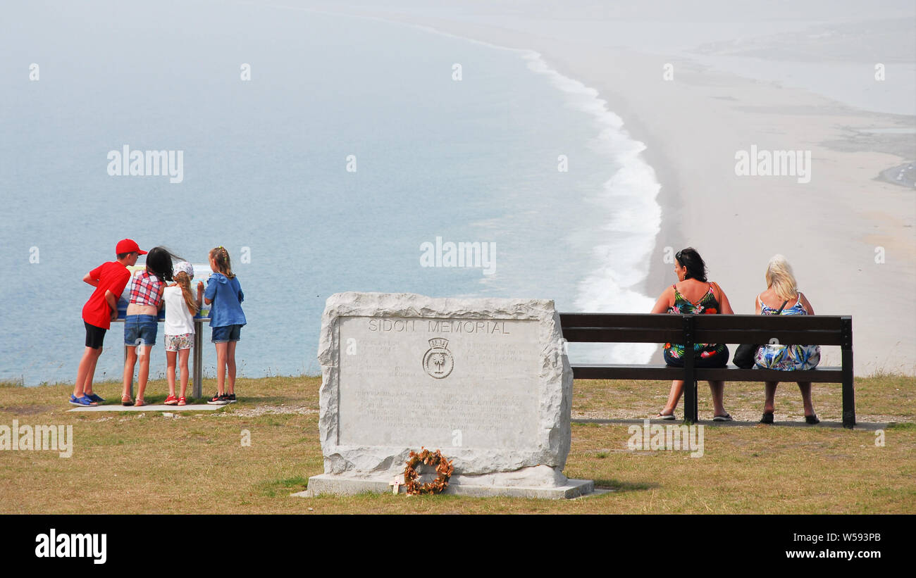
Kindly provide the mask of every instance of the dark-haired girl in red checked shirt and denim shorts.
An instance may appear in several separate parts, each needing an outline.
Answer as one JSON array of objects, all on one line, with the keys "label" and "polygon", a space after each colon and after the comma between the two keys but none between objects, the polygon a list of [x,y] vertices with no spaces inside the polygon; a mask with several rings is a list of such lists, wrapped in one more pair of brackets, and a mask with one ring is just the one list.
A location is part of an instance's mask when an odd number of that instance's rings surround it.
[{"label": "dark-haired girl in red checked shirt and denim shorts", "polygon": [[[153,247],[147,253],[147,270],[138,273],[130,284],[127,313],[124,319],[124,391],[122,405],[146,405],[143,392],[149,378],[149,351],[156,345],[159,309],[166,282],[172,281],[172,260],[180,261],[165,247]],[[130,382],[134,380],[136,353],[140,350],[140,370],[137,375],[136,402],[130,399]]]}]

